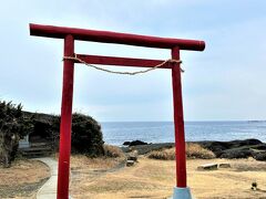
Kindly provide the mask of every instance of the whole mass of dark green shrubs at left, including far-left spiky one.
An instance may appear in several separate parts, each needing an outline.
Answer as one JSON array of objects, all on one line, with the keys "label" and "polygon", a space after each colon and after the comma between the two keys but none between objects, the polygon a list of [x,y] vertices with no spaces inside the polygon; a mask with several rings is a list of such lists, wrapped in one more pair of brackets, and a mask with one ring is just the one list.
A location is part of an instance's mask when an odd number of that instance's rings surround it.
[{"label": "whole mass of dark green shrubs at left, including far-left spiky one", "polygon": [[[19,139],[28,134],[48,138],[58,150],[60,117],[55,115],[22,112],[21,105],[0,101],[0,164],[9,167],[14,159]],[[72,151],[89,157],[103,156],[103,139],[100,124],[90,116],[72,115]]]}]

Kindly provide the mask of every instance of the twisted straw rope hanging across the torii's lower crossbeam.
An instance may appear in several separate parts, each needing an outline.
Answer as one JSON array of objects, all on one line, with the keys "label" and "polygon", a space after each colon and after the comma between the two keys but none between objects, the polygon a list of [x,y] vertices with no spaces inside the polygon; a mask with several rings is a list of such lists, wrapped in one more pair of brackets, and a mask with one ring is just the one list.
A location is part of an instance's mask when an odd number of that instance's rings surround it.
[{"label": "twisted straw rope hanging across the torii's lower crossbeam", "polygon": [[[141,74],[141,73],[147,73],[147,72],[150,72],[150,71],[154,71],[154,70],[163,66],[163,65],[166,64],[166,63],[182,63],[181,60],[168,59],[168,60],[165,60],[164,62],[162,62],[161,64],[154,65],[153,67],[150,67],[150,69],[147,69],[147,70],[135,71],[135,72],[121,72],[121,71],[106,70],[106,69],[99,67],[99,66],[96,66],[96,65],[86,63],[85,61],[79,59],[79,57],[76,56],[76,54],[74,54],[74,56],[63,56],[63,61],[64,61],[64,60],[76,61],[78,63],[85,64],[85,65],[88,65],[88,66],[90,66],[90,67],[93,67],[93,69],[95,69],[95,70],[99,70],[99,71],[103,71],[103,72],[108,72],[108,73],[113,73],[113,74],[123,74],[123,75],[136,75],[136,74]],[[181,72],[184,73],[185,71],[184,71],[183,69],[181,69]]]}]

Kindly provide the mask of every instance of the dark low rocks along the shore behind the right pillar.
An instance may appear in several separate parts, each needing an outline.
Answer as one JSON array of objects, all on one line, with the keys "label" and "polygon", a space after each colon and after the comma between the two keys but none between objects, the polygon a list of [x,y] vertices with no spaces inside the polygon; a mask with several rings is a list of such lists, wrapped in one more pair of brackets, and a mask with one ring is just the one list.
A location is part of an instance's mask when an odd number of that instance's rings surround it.
[{"label": "dark low rocks along the shore behind the right pillar", "polygon": [[[139,155],[147,154],[152,150],[160,150],[164,148],[171,148],[174,143],[157,143],[147,144],[136,142],[137,145],[132,145],[133,142],[126,142],[127,146],[121,147],[124,153],[137,150]],[[244,140],[232,140],[232,142],[188,142],[201,145],[203,148],[212,150],[217,158],[248,158],[253,157],[256,160],[266,161],[266,144],[258,139],[244,139]]]}]

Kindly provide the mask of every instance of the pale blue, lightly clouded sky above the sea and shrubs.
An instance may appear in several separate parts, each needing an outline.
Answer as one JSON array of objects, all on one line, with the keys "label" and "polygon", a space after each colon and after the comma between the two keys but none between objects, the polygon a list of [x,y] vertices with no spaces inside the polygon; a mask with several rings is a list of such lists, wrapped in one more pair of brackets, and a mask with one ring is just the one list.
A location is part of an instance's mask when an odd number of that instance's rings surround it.
[{"label": "pale blue, lightly clouded sky above the sea and shrubs", "polygon": [[[22,103],[27,111],[59,114],[63,42],[30,36],[30,22],[204,40],[204,52],[182,52],[185,119],[266,119],[266,1],[2,2],[0,100]],[[170,57],[168,50],[93,42],[75,42],[75,52]],[[121,76],[76,64],[74,78],[73,111],[98,121],[173,118],[168,70]]]}]

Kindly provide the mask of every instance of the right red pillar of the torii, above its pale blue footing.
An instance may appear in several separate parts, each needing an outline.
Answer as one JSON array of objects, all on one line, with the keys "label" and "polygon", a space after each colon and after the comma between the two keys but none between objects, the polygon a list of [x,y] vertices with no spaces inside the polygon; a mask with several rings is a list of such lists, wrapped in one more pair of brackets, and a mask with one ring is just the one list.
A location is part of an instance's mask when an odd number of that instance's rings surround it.
[{"label": "right red pillar of the torii, above its pale blue footing", "polygon": [[[180,48],[176,46],[172,49],[172,59],[180,60]],[[180,63],[173,64],[172,82],[174,101],[176,186],[184,188],[186,187],[186,155]]]}]

